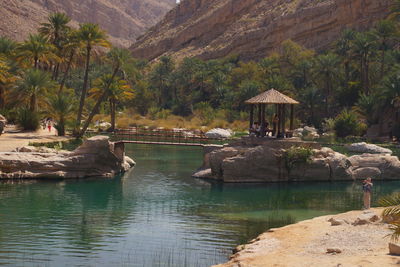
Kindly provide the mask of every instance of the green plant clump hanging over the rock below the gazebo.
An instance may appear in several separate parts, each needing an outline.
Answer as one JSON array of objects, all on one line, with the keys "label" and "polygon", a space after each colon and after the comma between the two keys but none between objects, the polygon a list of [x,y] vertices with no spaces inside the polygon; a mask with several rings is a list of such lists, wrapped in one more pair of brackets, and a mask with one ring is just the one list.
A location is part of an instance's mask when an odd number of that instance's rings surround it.
[{"label": "green plant clump hanging over the rock below the gazebo", "polygon": [[286,149],[282,155],[285,168],[289,175],[291,170],[299,165],[310,163],[313,151],[311,148],[292,146]]}]

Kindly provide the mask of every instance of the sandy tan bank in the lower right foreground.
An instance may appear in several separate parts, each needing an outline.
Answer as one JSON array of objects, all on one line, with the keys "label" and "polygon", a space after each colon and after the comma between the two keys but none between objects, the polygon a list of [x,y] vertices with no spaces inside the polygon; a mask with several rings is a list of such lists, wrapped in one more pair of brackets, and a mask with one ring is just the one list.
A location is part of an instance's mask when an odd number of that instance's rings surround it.
[{"label": "sandy tan bank in the lower right foreground", "polygon": [[[377,215],[382,209],[371,209]],[[363,211],[316,217],[281,228],[271,229],[232,255],[222,266],[392,266],[400,257],[388,254],[388,225],[371,222],[352,225]],[[346,221],[331,226],[330,218]],[[343,222],[342,221],[342,222]],[[327,253],[339,249],[341,253]]]}]

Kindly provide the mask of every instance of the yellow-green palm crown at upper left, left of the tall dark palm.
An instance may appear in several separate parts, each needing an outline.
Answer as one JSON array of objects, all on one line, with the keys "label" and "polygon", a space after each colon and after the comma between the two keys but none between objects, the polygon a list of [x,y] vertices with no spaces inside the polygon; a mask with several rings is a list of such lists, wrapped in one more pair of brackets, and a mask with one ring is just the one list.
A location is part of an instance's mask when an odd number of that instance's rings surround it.
[{"label": "yellow-green palm crown at upper left, left of the tall dark palm", "polygon": [[47,42],[46,37],[41,34],[31,34],[27,41],[19,47],[19,59],[30,60],[35,69],[39,68],[39,62],[49,63],[59,58],[54,53],[54,46]]}]

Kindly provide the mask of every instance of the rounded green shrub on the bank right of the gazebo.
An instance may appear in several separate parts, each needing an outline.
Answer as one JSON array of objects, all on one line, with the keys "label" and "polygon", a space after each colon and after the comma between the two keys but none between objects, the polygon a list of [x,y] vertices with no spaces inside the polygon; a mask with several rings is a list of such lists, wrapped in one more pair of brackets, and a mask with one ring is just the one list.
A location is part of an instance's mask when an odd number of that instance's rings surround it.
[{"label": "rounded green shrub on the bank right of the gazebo", "polygon": [[367,126],[361,123],[356,113],[343,110],[336,118],[334,130],[337,137],[344,138],[349,135],[360,136],[366,131]]}]

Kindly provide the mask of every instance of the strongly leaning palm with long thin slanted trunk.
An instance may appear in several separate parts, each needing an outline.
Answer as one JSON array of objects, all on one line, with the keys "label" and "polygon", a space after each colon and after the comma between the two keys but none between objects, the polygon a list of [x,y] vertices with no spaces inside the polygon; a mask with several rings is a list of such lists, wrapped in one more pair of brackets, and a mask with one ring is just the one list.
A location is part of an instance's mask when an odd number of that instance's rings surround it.
[{"label": "strongly leaning palm with long thin slanted trunk", "polygon": [[85,121],[82,131],[79,133],[78,137],[82,137],[85,134],[87,128],[89,127],[89,124],[93,120],[94,115],[97,114],[101,103],[105,101],[110,95],[110,86],[114,82],[114,79],[117,76],[118,72],[121,69],[123,70],[127,65],[131,65],[133,63],[133,58],[130,51],[122,48],[112,48],[111,51],[108,53],[107,58],[109,61],[111,61],[111,64],[113,66],[113,73],[107,78],[104,91],[102,95],[98,98],[96,104],[90,112],[89,117]]}]

